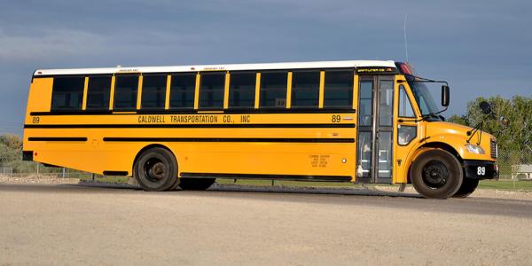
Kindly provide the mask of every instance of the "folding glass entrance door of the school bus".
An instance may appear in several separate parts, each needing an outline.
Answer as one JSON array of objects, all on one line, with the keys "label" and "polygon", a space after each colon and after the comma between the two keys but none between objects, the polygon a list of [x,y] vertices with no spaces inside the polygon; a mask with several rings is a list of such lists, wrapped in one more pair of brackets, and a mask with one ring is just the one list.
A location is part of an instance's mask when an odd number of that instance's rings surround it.
[{"label": "folding glass entrance door of the school bus", "polygon": [[394,76],[360,75],[357,183],[392,183]]}]

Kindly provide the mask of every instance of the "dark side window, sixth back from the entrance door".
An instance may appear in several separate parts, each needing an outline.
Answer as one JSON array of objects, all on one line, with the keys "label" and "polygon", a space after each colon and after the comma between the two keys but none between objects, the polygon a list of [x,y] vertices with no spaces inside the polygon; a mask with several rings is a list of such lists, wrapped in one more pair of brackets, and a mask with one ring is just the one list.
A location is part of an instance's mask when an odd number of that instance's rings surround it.
[{"label": "dark side window, sixth back from the entrance door", "polygon": [[170,83],[170,109],[194,108],[196,74],[172,74]]}]

